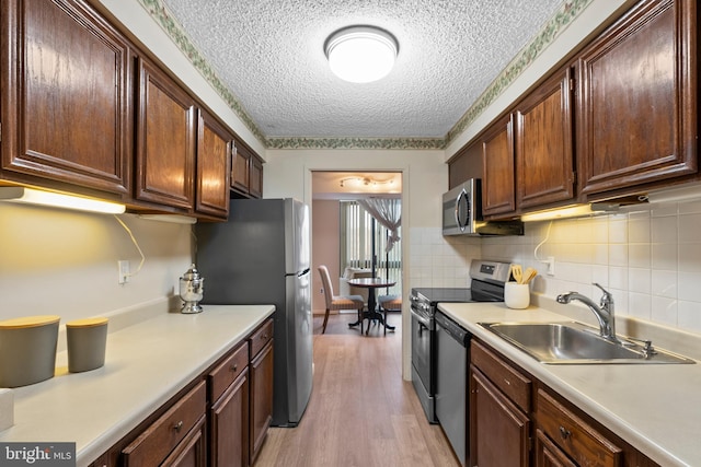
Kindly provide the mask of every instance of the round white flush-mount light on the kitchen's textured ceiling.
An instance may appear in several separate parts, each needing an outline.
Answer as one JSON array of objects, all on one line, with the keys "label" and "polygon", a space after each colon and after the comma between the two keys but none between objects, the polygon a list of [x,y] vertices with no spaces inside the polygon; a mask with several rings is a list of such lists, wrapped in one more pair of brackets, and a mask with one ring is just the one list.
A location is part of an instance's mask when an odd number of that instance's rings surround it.
[{"label": "round white flush-mount light on the kitchen's textured ceiling", "polygon": [[352,83],[384,78],[394,67],[399,44],[393,35],[375,26],[349,26],[326,39],[324,54],[331,71]]}]

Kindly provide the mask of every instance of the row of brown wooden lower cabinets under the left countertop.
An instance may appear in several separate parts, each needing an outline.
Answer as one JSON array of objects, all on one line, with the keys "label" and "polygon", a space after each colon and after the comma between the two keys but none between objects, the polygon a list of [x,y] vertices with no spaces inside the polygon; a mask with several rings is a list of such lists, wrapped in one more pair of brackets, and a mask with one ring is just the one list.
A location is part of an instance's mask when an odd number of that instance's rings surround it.
[{"label": "row of brown wooden lower cabinets under the left countertop", "polygon": [[267,319],[90,467],[248,467],[272,419]]}]

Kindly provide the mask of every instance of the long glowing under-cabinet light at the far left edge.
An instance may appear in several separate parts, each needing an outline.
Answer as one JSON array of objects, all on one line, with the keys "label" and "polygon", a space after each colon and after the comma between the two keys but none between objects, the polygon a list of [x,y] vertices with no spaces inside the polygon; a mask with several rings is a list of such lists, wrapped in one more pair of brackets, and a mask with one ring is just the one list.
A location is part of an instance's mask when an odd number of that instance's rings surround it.
[{"label": "long glowing under-cabinet light at the far left edge", "polygon": [[126,206],[117,202],[27,187],[0,187],[0,201],[74,209],[102,214],[122,214],[126,211]]}]

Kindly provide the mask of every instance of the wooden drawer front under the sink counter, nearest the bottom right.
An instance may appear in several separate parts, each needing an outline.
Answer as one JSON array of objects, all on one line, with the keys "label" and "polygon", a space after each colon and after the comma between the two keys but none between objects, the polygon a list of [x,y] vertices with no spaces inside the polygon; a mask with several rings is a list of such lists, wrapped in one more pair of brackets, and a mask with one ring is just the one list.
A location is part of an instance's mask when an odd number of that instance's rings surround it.
[{"label": "wooden drawer front under the sink counter, nearest the bottom right", "polygon": [[542,431],[578,465],[617,467],[622,451],[564,406],[538,390],[536,419]]}]

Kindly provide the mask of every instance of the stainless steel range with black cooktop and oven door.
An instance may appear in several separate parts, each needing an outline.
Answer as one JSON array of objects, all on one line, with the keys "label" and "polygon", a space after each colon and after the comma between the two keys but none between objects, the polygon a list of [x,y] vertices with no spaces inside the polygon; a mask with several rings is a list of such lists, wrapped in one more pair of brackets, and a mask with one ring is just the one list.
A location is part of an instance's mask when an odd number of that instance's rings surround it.
[{"label": "stainless steel range with black cooktop and oven door", "polygon": [[472,260],[470,288],[416,288],[411,293],[412,383],[428,421],[436,418],[436,310],[438,303],[503,302],[509,262]]}]

